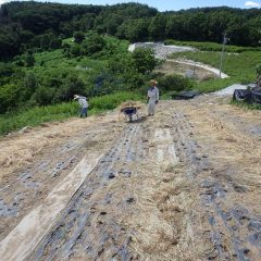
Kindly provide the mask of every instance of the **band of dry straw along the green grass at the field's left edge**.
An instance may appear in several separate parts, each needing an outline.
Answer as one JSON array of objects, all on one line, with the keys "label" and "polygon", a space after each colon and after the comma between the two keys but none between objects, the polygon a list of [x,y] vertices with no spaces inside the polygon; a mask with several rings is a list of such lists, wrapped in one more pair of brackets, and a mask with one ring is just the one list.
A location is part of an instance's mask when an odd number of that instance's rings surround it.
[{"label": "band of dry straw along the green grass at the field's left edge", "polygon": [[[98,116],[99,121],[116,121],[116,114]],[[12,133],[0,140],[0,179],[15,170],[34,161],[44,149],[55,148],[66,138],[77,136],[78,132],[95,126],[97,116],[87,120],[73,119],[60,123],[45,123],[40,127],[28,128],[25,133]],[[51,156],[50,156],[51,157]]]}]

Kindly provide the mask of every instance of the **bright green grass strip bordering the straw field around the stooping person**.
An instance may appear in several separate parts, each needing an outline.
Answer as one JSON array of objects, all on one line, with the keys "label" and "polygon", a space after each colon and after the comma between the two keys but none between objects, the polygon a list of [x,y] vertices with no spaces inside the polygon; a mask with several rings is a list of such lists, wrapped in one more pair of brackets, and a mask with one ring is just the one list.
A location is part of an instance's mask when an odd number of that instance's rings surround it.
[{"label": "bright green grass strip bordering the straw field around the stooping person", "polygon": [[[113,95],[95,97],[89,100],[88,114],[96,114],[105,110],[112,110],[126,100],[140,100],[135,92],[117,92]],[[76,101],[48,107],[36,107],[17,113],[0,115],[0,134],[8,134],[25,126],[38,126],[45,122],[62,121],[77,116],[79,111]]]}]

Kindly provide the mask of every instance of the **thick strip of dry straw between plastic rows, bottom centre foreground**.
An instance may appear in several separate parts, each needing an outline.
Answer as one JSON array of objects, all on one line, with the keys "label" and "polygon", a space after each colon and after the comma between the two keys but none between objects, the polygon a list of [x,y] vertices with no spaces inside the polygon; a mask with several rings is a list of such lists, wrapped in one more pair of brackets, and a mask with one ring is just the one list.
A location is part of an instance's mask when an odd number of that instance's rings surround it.
[{"label": "thick strip of dry straw between plastic rows, bottom centre foreground", "polygon": [[138,260],[195,261],[197,252],[200,256],[206,251],[204,246],[194,244],[190,209],[197,191],[184,171],[181,165],[166,166],[160,172],[147,169],[142,184],[137,181],[139,211],[128,226],[135,231],[130,247]]}]

